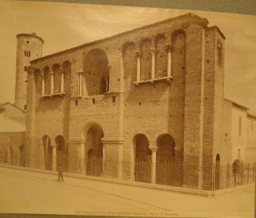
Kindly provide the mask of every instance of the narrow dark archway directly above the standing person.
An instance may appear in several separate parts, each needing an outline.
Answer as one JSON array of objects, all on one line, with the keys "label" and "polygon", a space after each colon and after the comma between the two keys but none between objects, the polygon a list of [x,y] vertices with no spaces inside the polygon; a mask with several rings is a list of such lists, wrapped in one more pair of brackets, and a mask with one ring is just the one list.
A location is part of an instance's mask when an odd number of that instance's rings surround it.
[{"label": "narrow dark archway directly above the standing person", "polygon": [[56,165],[62,166],[63,170],[67,170],[66,166],[66,152],[65,152],[65,140],[63,136],[58,135],[55,139],[56,142]]}]

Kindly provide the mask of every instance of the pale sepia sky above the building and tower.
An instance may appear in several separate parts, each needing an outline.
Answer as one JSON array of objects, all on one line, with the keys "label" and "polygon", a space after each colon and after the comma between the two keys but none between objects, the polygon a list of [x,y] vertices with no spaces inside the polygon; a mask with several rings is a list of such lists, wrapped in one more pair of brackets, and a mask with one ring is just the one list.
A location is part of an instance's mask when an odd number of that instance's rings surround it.
[{"label": "pale sepia sky above the building and tower", "polygon": [[225,98],[256,113],[256,16],[7,0],[0,2],[0,103],[14,102],[16,34],[37,33],[45,41],[43,55],[49,55],[189,12],[225,34]]}]

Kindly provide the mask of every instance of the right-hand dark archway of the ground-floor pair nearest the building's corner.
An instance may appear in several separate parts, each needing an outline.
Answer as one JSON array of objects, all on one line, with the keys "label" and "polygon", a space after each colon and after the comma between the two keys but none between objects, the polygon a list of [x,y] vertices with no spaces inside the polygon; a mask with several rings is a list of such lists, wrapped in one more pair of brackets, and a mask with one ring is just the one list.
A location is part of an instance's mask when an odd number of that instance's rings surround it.
[{"label": "right-hand dark archway of the ground-floor pair nearest the building's corner", "polygon": [[175,140],[170,134],[157,138],[156,182],[175,184],[178,181],[178,165],[175,165]]}]

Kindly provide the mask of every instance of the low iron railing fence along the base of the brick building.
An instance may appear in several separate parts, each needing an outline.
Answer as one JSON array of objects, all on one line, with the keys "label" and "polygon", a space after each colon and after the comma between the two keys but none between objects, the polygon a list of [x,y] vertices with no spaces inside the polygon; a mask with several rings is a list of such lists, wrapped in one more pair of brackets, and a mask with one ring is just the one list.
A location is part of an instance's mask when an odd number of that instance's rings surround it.
[{"label": "low iron railing fence along the base of the brick building", "polygon": [[[67,161],[62,163],[63,170],[68,172]],[[45,169],[45,166],[41,165],[41,168]],[[193,167],[175,162],[152,163],[145,160],[117,162],[93,157],[85,160],[85,168],[81,172],[96,177],[111,177],[175,187],[190,187],[188,172],[192,177],[193,172],[196,172],[200,175],[200,181],[198,185],[193,185],[191,188],[218,190],[255,182],[256,163],[240,163],[236,166],[229,163],[226,165],[215,163],[213,166]]]}]

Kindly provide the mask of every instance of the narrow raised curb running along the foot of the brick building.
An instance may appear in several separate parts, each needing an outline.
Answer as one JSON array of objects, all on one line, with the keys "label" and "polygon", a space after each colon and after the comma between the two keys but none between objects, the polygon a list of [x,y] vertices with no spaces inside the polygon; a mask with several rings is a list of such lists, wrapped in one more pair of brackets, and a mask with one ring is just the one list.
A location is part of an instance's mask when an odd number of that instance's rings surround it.
[{"label": "narrow raised curb running along the foot of the brick building", "polygon": [[[5,164],[0,164],[0,167],[3,168],[9,168],[13,170],[23,170],[23,171],[29,171],[34,173],[44,173],[44,174],[51,174],[56,175],[56,171],[52,170],[41,170],[41,169],[34,169],[34,168],[28,168],[23,166],[9,166]],[[120,179],[113,179],[108,177],[92,177],[88,175],[83,174],[75,174],[75,173],[63,173],[65,177],[72,177],[77,179],[83,179],[83,180],[95,180],[99,182],[108,182],[112,184],[122,184],[122,185],[130,185],[135,186],[139,188],[151,188],[161,191],[174,191],[178,193],[182,193],[183,195],[201,195],[204,197],[215,197],[217,195],[224,195],[226,193],[230,193],[233,191],[240,191],[246,188],[254,188],[254,184],[244,184],[240,186],[236,186],[233,188],[225,188],[218,191],[206,191],[196,188],[183,188],[183,187],[173,187],[173,186],[167,186],[167,185],[161,185],[161,184],[150,184],[150,183],[140,183],[135,181],[129,181],[129,180],[120,180]]]}]

